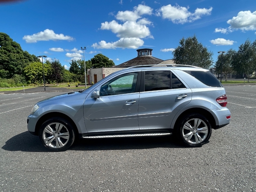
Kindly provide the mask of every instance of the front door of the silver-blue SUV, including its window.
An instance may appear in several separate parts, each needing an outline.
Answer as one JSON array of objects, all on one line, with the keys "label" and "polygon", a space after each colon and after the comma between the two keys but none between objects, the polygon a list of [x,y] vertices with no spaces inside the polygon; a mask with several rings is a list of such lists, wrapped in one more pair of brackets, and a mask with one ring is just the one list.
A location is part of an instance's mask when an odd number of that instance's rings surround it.
[{"label": "front door of the silver-blue SUV, including its window", "polygon": [[[99,98],[84,102],[87,132],[138,130],[139,72],[125,73],[99,85]],[[140,84],[140,83],[139,83]]]}]

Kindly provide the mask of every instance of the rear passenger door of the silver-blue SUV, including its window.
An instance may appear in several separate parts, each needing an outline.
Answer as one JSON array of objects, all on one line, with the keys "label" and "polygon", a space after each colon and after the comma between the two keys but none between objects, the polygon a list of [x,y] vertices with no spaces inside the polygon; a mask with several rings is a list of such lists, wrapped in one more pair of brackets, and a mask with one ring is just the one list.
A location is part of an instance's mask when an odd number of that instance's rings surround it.
[{"label": "rear passenger door of the silver-blue SUV, including its window", "polygon": [[192,98],[192,91],[170,70],[142,73],[138,108],[140,130],[170,128],[172,119]]}]

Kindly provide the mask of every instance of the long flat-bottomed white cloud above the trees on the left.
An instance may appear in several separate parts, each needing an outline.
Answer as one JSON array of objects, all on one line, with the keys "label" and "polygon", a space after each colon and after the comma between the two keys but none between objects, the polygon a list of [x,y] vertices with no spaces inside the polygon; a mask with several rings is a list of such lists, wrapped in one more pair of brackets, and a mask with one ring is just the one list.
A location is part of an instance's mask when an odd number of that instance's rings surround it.
[{"label": "long flat-bottomed white cloud above the trees on the left", "polygon": [[38,41],[57,41],[57,40],[67,40],[67,41],[73,41],[74,38],[70,36],[65,36],[63,34],[56,34],[53,30],[45,29],[43,32],[38,32],[33,35],[25,35],[23,40],[26,41],[26,43],[36,43]]}]

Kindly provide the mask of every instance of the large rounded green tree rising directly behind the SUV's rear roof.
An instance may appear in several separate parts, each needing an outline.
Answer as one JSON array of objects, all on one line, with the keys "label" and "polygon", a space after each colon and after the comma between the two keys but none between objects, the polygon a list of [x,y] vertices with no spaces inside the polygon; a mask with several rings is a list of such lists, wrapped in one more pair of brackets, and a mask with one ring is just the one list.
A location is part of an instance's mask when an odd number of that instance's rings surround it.
[{"label": "large rounded green tree rising directly behind the SUV's rear roof", "polygon": [[196,36],[182,38],[180,45],[172,52],[175,64],[186,64],[209,69],[212,64],[212,52],[198,43]]}]

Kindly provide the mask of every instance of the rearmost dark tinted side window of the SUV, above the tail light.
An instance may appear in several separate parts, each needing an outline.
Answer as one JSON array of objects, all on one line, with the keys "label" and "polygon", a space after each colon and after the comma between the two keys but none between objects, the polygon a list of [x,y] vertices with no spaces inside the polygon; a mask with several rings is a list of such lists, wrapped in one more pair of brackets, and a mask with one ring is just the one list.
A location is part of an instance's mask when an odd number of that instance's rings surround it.
[{"label": "rearmost dark tinted side window of the SUV, above the tail light", "polygon": [[222,87],[220,81],[209,71],[184,71],[209,87]]}]

